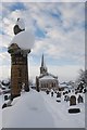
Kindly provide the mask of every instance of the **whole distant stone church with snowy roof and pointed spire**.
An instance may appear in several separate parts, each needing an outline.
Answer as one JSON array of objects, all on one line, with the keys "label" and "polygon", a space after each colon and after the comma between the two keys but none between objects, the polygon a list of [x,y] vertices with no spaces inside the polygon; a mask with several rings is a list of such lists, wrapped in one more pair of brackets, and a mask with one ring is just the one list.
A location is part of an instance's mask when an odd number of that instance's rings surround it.
[{"label": "whole distant stone church with snowy roof and pointed spire", "polygon": [[48,68],[45,64],[44,54],[41,57],[41,66],[40,66],[40,75],[36,77],[36,88],[42,91],[49,89],[58,90],[59,89],[59,81],[58,77],[48,73]]}]

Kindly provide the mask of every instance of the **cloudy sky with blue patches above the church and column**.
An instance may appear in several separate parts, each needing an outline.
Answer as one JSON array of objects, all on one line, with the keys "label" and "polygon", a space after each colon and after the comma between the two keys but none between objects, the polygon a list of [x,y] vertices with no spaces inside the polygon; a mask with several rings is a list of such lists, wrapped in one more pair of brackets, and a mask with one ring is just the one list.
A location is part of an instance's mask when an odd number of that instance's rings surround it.
[{"label": "cloudy sky with blue patches above the church and column", "polygon": [[44,53],[49,73],[60,81],[76,79],[85,66],[84,2],[5,2],[0,10],[0,78],[10,77],[8,46],[14,37],[16,20],[22,17],[35,34],[35,46],[28,55],[29,77],[39,75]]}]

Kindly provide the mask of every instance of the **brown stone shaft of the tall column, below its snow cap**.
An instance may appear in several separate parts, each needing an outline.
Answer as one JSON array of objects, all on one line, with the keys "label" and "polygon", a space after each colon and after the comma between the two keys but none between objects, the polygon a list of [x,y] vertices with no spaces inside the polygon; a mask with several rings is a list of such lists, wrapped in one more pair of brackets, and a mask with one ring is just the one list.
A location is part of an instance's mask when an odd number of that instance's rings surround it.
[{"label": "brown stone shaft of the tall column, below its snow cap", "polygon": [[8,52],[11,54],[11,96],[13,99],[21,95],[23,83],[25,91],[29,91],[27,56],[30,50],[23,51],[16,43],[12,43]]}]

